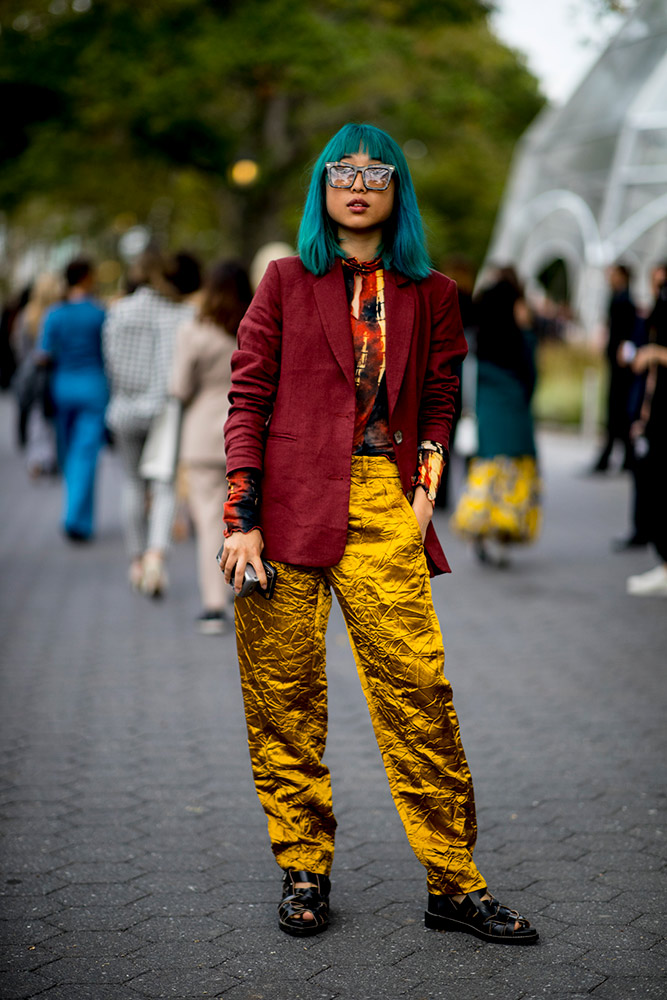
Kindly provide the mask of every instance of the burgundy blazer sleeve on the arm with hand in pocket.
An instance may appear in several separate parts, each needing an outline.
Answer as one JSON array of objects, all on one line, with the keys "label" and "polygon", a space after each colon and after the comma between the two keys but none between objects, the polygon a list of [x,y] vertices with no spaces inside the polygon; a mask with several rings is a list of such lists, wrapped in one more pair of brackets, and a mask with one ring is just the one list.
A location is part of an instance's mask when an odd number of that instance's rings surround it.
[{"label": "burgundy blazer sleeve on the arm with hand in pocket", "polygon": [[437,441],[449,447],[459,377],[453,374],[468,353],[463,335],[456,282],[434,289],[431,343],[419,406],[420,441]]}]

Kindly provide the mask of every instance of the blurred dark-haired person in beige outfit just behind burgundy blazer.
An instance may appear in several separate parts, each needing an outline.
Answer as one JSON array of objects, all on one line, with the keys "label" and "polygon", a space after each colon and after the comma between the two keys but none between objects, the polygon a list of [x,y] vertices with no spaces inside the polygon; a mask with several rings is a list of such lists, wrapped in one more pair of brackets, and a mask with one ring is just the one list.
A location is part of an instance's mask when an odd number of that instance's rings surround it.
[{"label": "blurred dark-haired person in beige outfit just behind burgundy blazer", "polygon": [[203,606],[197,622],[208,635],[225,632],[227,627],[229,587],[215,560],[223,540],[222,510],[227,496],[223,426],[236,331],[251,298],[243,268],[220,261],[206,278],[198,315],[176,335],[171,394],[184,406],[180,460],[186,468],[197,535]]}]

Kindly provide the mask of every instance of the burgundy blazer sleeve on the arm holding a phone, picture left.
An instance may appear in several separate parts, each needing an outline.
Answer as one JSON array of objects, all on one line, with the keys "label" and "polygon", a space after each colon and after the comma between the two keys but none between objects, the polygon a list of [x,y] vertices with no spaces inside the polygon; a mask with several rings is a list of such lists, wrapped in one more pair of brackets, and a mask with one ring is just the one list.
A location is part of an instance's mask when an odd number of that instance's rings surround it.
[{"label": "burgundy blazer sleeve on the arm holding a phone, picture left", "polygon": [[227,472],[264,469],[266,425],[280,376],[282,306],[280,272],[269,264],[239,326],[232,354],[232,385],[225,423]]}]

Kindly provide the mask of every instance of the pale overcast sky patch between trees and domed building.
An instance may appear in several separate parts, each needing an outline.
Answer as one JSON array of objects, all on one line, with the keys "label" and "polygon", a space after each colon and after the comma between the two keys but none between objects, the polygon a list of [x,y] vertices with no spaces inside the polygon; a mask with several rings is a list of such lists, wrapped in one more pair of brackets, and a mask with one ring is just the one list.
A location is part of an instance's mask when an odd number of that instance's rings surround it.
[{"label": "pale overcast sky patch between trees and domed building", "polygon": [[595,0],[497,0],[497,34],[523,52],[550,100],[562,104],[623,22]]}]

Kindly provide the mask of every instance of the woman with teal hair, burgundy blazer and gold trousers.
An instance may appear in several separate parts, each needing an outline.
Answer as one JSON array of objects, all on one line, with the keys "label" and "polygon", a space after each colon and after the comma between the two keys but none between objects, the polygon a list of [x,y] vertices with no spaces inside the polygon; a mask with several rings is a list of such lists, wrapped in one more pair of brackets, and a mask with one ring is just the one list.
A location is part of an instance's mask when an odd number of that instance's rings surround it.
[{"label": "woman with teal hair, burgundy blazer and gold trousers", "polygon": [[329,923],[333,591],[426,868],[427,926],[538,937],[473,862],[472,779],[431,598],[429,576],[449,572],[431,517],[465,352],[456,286],[430,269],[403,153],[378,128],[346,125],[313,168],[299,256],[269,265],[239,327],[225,425],[219,562],[238,595],[250,756],[288,934]]}]

